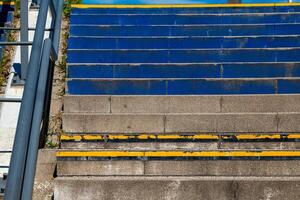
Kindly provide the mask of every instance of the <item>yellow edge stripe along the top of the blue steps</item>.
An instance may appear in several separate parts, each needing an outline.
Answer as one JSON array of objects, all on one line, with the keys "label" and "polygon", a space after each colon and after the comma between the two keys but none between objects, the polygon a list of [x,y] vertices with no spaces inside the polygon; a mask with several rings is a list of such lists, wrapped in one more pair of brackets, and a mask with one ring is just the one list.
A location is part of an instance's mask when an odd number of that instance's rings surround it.
[{"label": "yellow edge stripe along the top of the blue steps", "polygon": [[253,3],[253,4],[148,4],[148,5],[99,5],[72,4],[72,8],[228,8],[228,7],[275,7],[300,6],[300,3]]}]

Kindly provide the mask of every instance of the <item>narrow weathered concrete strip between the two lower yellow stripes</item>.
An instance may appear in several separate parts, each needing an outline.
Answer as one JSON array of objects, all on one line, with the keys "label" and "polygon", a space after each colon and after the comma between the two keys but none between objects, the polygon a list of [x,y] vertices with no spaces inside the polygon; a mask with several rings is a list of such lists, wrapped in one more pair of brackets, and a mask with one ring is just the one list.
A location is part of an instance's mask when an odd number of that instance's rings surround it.
[{"label": "narrow weathered concrete strip between the two lower yellow stripes", "polygon": [[[91,135],[93,136],[93,135]],[[261,140],[263,141],[263,140]],[[209,150],[300,150],[298,142],[270,142],[266,139],[264,142],[65,142],[61,141],[63,149],[85,149],[85,150],[128,150],[128,151],[209,151]]]}]

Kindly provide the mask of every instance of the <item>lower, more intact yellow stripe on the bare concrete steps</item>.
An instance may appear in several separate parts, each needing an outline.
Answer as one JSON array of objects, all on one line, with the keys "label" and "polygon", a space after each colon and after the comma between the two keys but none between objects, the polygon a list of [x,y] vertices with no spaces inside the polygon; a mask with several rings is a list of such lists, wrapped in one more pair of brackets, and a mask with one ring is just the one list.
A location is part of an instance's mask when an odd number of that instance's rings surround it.
[{"label": "lower, more intact yellow stripe on the bare concrete steps", "polygon": [[57,157],[299,157],[300,151],[60,151]]}]

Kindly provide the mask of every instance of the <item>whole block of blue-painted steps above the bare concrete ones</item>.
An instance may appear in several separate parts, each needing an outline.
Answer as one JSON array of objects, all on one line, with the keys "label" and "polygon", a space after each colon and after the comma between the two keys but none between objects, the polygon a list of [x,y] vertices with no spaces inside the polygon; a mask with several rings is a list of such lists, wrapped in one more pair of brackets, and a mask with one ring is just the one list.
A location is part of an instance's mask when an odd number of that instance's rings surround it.
[{"label": "whole block of blue-painted steps above the bare concrete ones", "polygon": [[300,6],[73,9],[67,93],[300,93],[300,14],[287,12]]}]

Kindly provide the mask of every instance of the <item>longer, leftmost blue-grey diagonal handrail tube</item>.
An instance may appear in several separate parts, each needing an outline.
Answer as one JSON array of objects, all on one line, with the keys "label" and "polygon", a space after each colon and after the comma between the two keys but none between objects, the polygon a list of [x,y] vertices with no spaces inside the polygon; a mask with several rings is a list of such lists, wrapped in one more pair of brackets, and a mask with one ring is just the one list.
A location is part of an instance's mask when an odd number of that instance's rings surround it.
[{"label": "longer, leftmost blue-grey diagonal handrail tube", "polygon": [[23,102],[17,124],[13,154],[8,173],[5,200],[18,200],[21,197],[25,160],[31,130],[33,106],[38,82],[41,49],[45,32],[49,0],[43,0],[37,19],[37,26],[30,54],[27,80],[24,88]]}]

